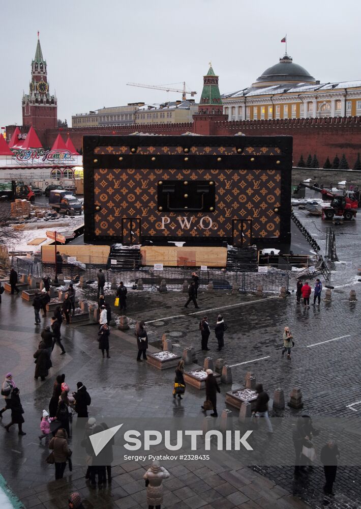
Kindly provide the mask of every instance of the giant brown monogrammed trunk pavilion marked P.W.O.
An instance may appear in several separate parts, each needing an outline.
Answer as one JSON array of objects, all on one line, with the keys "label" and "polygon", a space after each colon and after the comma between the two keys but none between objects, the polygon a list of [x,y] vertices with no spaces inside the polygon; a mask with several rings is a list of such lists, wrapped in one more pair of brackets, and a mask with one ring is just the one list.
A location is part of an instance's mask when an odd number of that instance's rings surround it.
[{"label": "giant brown monogrammed trunk pavilion marked P.W.O", "polygon": [[289,136],[84,136],[86,243],[290,241]]}]

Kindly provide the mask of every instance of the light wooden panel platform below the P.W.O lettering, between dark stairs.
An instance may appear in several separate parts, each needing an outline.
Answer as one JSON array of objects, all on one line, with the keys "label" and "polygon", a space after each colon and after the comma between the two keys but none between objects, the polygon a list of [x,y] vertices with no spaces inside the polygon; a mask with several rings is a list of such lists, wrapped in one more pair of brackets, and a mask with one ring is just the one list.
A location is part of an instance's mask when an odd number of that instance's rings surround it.
[{"label": "light wooden panel platform below the P.W.O lettering, between dark stairs", "polygon": [[177,247],[142,246],[140,248],[142,265],[163,263],[168,267],[225,267],[227,265],[226,247]]}]

